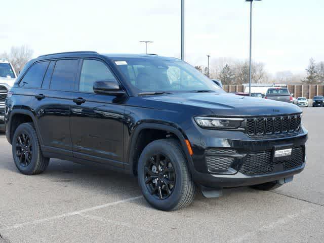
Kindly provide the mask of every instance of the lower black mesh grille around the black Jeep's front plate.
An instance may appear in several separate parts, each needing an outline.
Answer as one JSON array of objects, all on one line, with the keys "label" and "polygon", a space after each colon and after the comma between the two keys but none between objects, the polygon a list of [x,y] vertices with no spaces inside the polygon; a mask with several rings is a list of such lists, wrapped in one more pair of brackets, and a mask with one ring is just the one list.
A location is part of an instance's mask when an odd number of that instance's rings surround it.
[{"label": "lower black mesh grille around the black Jeep's front plate", "polygon": [[280,171],[287,171],[302,166],[304,162],[304,149],[294,148],[292,155],[282,161],[272,160],[272,151],[251,153],[247,156],[239,172],[248,175],[264,175]]}]

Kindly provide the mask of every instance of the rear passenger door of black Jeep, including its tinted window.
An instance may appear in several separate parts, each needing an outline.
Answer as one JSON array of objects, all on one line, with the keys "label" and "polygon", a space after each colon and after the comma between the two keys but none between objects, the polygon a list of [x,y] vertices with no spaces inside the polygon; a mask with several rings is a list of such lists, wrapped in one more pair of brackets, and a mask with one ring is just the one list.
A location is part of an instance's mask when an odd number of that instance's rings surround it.
[{"label": "rear passenger door of black Jeep, including its tinted window", "polygon": [[70,107],[76,92],[80,59],[51,61],[42,90],[35,96],[38,127],[43,139],[42,149],[72,156]]}]

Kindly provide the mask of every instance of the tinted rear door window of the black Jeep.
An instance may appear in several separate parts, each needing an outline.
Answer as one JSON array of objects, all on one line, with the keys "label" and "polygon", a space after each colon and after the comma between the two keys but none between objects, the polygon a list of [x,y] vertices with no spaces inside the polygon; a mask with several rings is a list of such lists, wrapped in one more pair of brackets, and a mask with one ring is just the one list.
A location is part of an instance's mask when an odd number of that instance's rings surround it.
[{"label": "tinted rear door window of the black Jeep", "polygon": [[52,80],[52,90],[75,90],[77,68],[79,60],[58,60],[56,61]]}]

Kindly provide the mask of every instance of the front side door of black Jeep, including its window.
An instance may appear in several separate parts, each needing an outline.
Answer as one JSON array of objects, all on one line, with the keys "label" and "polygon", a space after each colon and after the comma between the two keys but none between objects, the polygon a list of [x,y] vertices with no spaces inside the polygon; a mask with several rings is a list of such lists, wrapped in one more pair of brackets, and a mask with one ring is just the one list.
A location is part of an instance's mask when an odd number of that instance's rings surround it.
[{"label": "front side door of black Jeep, including its window", "polygon": [[[73,156],[124,167],[123,123],[125,98],[95,94],[93,83],[117,79],[107,64],[97,59],[84,59],[71,106]],[[79,102],[78,102],[79,101]]]}]

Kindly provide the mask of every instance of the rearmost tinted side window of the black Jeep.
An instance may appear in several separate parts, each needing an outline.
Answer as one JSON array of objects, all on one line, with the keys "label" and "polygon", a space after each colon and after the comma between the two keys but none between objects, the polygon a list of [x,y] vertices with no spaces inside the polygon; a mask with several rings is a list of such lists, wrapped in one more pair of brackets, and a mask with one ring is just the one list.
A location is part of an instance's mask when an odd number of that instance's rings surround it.
[{"label": "rearmost tinted side window of the black Jeep", "polygon": [[44,74],[49,62],[37,62],[32,65],[25,76],[22,78],[19,86],[30,88],[41,88]]}]

